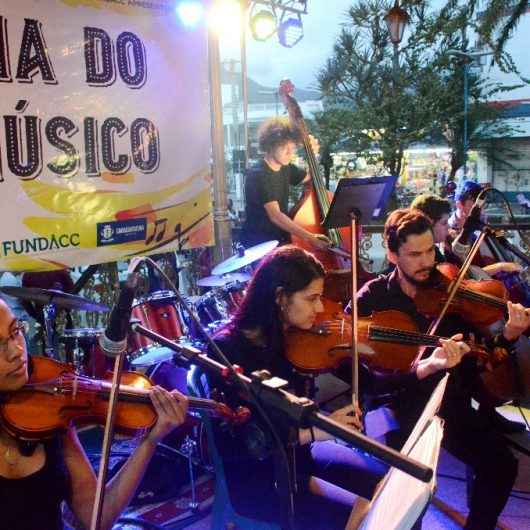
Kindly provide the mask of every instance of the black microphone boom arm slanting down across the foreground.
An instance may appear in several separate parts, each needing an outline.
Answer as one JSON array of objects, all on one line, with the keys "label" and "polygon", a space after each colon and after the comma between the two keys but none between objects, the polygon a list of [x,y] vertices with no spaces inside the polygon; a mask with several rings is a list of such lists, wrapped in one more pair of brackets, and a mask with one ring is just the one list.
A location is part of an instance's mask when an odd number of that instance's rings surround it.
[{"label": "black microphone boom arm slanting down across the foreground", "polygon": [[330,419],[318,411],[318,406],[314,401],[283,390],[287,382],[277,377],[271,377],[266,371],[253,372],[249,378],[236,371],[230,371],[227,366],[211,359],[193,346],[177,344],[138,323],[133,322],[131,329],[133,332],[140,333],[140,335],[173,350],[176,353],[173,360],[179,366],[188,368],[190,364],[196,364],[203,371],[214,373],[227,382],[239,383],[239,387],[243,390],[252,389],[253,395],[244,394],[244,399],[253,401],[254,395],[257,396],[261,403],[280,411],[297,427],[318,427],[422,482],[429,482],[432,478],[433,470],[431,468]]}]

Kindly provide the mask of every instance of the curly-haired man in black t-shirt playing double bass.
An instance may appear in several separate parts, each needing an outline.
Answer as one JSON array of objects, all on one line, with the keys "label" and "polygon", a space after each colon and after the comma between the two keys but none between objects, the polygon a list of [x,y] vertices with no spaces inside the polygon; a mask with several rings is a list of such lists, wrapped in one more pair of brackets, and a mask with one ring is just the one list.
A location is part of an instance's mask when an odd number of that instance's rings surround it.
[{"label": "curly-haired man in black t-shirt playing double bass", "polygon": [[[299,131],[286,118],[270,118],[258,130],[258,143],[263,159],[251,168],[245,179],[245,222],[241,243],[251,247],[277,239],[290,243],[291,235],[307,241],[315,249],[329,246],[326,236],[315,235],[295,223],[288,215],[289,189],[309,181],[305,170],[292,164],[298,144]],[[313,151],[318,142],[310,136]]]}]

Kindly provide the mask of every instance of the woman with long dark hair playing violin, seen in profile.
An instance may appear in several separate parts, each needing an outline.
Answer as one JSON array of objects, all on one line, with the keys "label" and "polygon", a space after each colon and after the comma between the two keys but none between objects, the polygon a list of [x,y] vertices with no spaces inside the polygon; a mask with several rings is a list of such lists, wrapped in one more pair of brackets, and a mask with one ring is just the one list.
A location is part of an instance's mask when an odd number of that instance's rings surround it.
[{"label": "woman with long dark hair playing violin, seen in profile", "polygon": [[[229,359],[250,374],[268,370],[289,383],[289,390],[306,393],[306,379],[285,357],[285,333],[290,327],[310,329],[323,310],[324,269],[308,252],[279,247],[266,256],[256,271],[240,311],[216,342]],[[230,396],[229,396],[230,397]],[[331,417],[350,426],[359,426],[348,409]],[[270,411],[272,414],[273,411]],[[259,418],[259,414],[253,414]],[[289,455],[298,494],[295,497],[296,528],[344,528],[354,492],[372,496],[385,466],[349,447],[336,443],[319,429],[293,429],[281,417],[271,418]],[[254,428],[254,427],[253,427]],[[252,431],[254,432],[254,431]],[[256,519],[281,522],[282,500],[286,494],[276,485],[284,469],[276,466],[278,450],[265,444],[257,454],[251,440],[271,439],[265,424],[261,435],[248,428],[231,432],[219,430],[217,445],[225,460],[225,470],[236,511]],[[310,482],[316,476],[320,483]],[[310,487],[318,486],[317,489]],[[318,525],[322,521],[322,526]]]}]

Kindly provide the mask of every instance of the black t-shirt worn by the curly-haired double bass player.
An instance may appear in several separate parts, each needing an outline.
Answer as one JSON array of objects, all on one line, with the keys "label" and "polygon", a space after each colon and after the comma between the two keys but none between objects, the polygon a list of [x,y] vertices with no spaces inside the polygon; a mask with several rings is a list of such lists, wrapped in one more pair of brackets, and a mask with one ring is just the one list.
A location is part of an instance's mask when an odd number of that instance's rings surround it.
[{"label": "black t-shirt worn by the curly-haired double bass player", "polygon": [[280,210],[288,213],[289,187],[300,184],[306,175],[305,170],[294,164],[282,166],[273,171],[261,160],[251,168],[245,178],[245,223],[241,232],[241,242],[246,246],[258,245],[277,239],[289,243],[290,234],[272,223],[265,211],[265,204],[277,201]]}]

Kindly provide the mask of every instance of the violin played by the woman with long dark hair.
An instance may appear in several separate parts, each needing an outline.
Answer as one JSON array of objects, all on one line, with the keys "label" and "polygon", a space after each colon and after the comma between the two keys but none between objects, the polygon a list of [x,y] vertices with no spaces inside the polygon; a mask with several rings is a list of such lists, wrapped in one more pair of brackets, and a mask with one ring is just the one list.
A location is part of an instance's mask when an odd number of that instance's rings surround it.
[{"label": "violin played by the woman with long dark hair", "polygon": [[[401,311],[374,312],[358,319],[359,357],[370,367],[406,372],[411,369],[420,346],[439,346],[436,335],[419,333],[414,320]],[[321,373],[335,370],[351,358],[351,317],[342,312],[340,304],[324,301],[324,312],[317,317],[311,330],[291,329],[286,337],[286,357],[300,371]],[[468,342],[468,355],[492,364],[505,355],[490,352]]]}]

